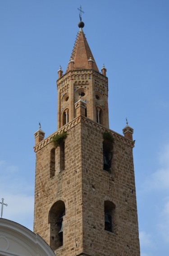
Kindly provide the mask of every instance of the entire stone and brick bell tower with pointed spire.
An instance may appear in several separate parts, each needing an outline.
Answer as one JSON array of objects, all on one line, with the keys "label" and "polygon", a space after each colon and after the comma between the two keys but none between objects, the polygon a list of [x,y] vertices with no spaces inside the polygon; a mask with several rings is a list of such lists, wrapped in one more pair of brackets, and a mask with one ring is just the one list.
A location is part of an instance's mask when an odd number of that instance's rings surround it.
[{"label": "entire stone and brick bell tower with pointed spire", "polygon": [[106,69],[78,26],[58,71],[58,130],[35,133],[34,233],[57,256],[140,256],[133,129],[109,129]]}]

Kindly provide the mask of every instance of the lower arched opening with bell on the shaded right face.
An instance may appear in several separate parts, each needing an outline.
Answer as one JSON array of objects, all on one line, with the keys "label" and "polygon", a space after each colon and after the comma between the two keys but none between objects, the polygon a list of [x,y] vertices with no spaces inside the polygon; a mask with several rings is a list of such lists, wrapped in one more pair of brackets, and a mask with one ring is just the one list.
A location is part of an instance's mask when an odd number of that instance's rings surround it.
[{"label": "lower arched opening with bell on the shaded right face", "polygon": [[115,233],[115,205],[105,201],[105,230]]}]

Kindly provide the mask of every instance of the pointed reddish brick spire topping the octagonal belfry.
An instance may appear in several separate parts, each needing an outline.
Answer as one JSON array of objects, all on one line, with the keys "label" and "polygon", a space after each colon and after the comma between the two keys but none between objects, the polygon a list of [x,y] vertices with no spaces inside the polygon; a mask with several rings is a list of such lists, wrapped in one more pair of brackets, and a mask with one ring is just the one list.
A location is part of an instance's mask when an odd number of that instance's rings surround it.
[{"label": "pointed reddish brick spire topping the octagonal belfry", "polygon": [[[91,49],[87,43],[87,39],[83,33],[82,27],[78,32],[78,36],[73,47],[70,61],[74,61],[74,65],[71,66],[69,62],[66,73],[72,69],[73,70],[93,69],[99,72],[96,62],[94,60],[94,57],[91,53]],[[92,61],[92,65],[91,65],[91,61]]]}]

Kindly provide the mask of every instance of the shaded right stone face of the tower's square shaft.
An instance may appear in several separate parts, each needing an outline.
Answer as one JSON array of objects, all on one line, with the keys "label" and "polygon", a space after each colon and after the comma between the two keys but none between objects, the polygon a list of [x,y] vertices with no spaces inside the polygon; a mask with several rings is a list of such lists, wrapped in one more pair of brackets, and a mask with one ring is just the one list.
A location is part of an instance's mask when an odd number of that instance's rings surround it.
[{"label": "shaded right stone face of the tower's square shaft", "polygon": [[[102,142],[102,132],[82,125],[83,252],[140,256],[132,147],[114,140],[111,172],[107,172]],[[114,233],[105,231],[105,200],[115,204]]]}]

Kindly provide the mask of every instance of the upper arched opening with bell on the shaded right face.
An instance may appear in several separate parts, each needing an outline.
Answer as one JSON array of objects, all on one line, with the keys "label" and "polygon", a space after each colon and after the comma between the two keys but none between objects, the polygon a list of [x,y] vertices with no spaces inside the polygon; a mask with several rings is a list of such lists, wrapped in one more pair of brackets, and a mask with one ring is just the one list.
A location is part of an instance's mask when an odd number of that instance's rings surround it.
[{"label": "upper arched opening with bell on the shaded right face", "polygon": [[113,157],[113,144],[109,140],[103,140],[103,170],[110,172]]}]

